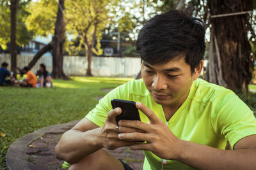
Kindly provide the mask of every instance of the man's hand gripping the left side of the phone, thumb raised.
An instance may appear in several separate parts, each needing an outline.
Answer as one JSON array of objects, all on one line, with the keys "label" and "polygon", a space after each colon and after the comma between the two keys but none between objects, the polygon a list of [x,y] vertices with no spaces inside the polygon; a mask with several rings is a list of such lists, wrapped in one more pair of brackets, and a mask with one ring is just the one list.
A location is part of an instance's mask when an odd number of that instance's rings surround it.
[{"label": "man's hand gripping the left side of the phone, thumb raised", "polygon": [[[122,146],[131,146],[134,145],[134,142],[120,140],[118,138],[118,131],[116,130],[116,116],[120,115],[122,110],[120,108],[115,108],[114,110],[109,111],[108,117],[106,119],[103,127],[100,128],[100,136],[102,136],[102,145],[104,148],[109,150],[115,150]],[[119,129],[119,132],[141,132],[140,130],[132,127],[122,127]]]}]

